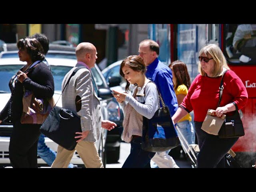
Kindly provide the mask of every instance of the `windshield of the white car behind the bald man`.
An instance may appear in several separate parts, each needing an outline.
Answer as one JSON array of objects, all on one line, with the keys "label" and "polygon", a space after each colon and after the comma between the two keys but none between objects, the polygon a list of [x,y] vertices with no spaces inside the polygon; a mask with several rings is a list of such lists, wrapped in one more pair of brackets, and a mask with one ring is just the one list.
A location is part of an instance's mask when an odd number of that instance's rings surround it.
[{"label": "windshield of the white car behind the bald man", "polygon": [[[0,93],[10,93],[9,81],[23,65],[1,65],[0,66]],[[72,66],[51,66],[52,75],[54,78],[54,89],[55,92],[61,92],[61,84],[64,76],[72,69]],[[92,75],[98,88],[104,86],[104,82],[96,70],[92,68]]]}]

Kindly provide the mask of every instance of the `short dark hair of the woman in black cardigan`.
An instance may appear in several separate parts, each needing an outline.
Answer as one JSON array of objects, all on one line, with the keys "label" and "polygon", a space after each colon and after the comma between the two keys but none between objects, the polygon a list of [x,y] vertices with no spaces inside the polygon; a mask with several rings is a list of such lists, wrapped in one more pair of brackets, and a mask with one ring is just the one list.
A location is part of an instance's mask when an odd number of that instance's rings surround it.
[{"label": "short dark hair of the woman in black cardigan", "polygon": [[44,50],[42,45],[36,38],[23,38],[17,42],[17,47],[20,50],[26,50],[32,60],[35,62],[37,60],[44,60]]}]

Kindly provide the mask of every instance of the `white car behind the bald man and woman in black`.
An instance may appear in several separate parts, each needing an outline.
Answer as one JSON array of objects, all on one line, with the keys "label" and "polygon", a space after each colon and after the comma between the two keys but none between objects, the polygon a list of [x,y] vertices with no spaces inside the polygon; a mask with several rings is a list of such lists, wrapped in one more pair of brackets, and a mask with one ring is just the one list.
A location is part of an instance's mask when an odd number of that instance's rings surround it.
[{"label": "white car behind the bald man and woman in black", "polygon": [[[74,52],[65,52],[65,51],[52,51],[49,50],[47,56],[47,61],[49,62],[52,74],[54,76],[54,100],[57,102],[57,106],[62,106],[61,102],[61,84],[66,73],[75,66],[76,57]],[[18,59],[17,51],[11,52],[1,52],[0,53],[0,110],[4,108],[5,104],[10,98],[10,89],[8,87],[8,82],[10,78],[22,67],[22,65],[26,64],[25,62],[21,62]],[[97,65],[92,68],[92,76],[94,77],[96,87],[98,90],[98,97],[100,98],[100,104],[103,114],[103,119],[108,119],[116,124],[120,125],[123,120],[123,114],[120,110],[120,105],[113,98],[108,85],[106,84],[106,80],[104,79],[102,73],[100,72]],[[59,99],[59,100],[58,100]],[[115,128],[118,129],[118,128]],[[114,130],[115,130],[114,129]],[[9,160],[9,142],[10,142],[10,134],[12,132],[12,124],[8,124],[8,122],[2,122],[0,124],[0,166],[8,166],[10,165]],[[96,146],[98,148],[98,152],[100,157],[102,158],[102,162],[104,167],[106,166],[106,140],[107,140],[107,130],[102,129],[100,134],[100,139],[96,142]],[[45,139],[46,145],[52,148],[54,151],[57,151],[58,145],[50,140],[49,138]],[[119,144],[120,149],[120,144]],[[118,156],[119,159],[119,156]],[[83,166],[83,162],[81,158],[78,156],[78,153],[75,152],[74,156],[71,160],[71,163],[77,164],[78,166]],[[38,157],[39,166],[44,164],[45,162]]]}]

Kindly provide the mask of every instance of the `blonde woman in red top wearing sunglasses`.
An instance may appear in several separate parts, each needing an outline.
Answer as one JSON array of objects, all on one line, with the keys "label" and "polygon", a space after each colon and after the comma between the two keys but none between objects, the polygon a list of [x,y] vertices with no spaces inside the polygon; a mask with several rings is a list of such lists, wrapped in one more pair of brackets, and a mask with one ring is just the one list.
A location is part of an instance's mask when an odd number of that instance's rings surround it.
[{"label": "blonde woman in red top wearing sunglasses", "polygon": [[[192,82],[187,96],[172,116],[177,123],[194,110],[196,136],[200,152],[197,156],[198,168],[224,168],[224,156],[238,140],[219,138],[201,129],[208,109],[216,110],[216,116],[230,115],[246,105],[248,94],[242,80],[227,65],[226,58],[216,44],[206,44],[199,52],[198,76]],[[224,90],[218,106],[219,87],[222,74]]]}]

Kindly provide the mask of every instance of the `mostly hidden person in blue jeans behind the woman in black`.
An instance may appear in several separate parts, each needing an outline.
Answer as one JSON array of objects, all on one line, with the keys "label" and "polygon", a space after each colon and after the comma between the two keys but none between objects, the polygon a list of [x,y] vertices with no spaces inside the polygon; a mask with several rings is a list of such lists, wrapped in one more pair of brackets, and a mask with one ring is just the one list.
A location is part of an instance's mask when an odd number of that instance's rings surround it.
[{"label": "mostly hidden person in blue jeans behind the woman in black", "polygon": [[[48,53],[49,39],[44,34],[36,33],[36,34],[30,36],[30,38],[36,38],[36,40],[38,40],[40,42],[40,44],[42,45],[44,54],[46,55]],[[44,58],[43,62],[51,70],[50,65],[48,64],[46,58]],[[57,155],[57,153],[54,150],[52,150],[45,144],[44,134],[42,134],[42,133],[40,134],[39,139],[38,139],[37,154],[48,164],[48,166],[52,166],[52,163],[54,162],[56,155]],[[77,168],[77,165],[73,165],[70,163],[68,165],[68,168]]]}]

